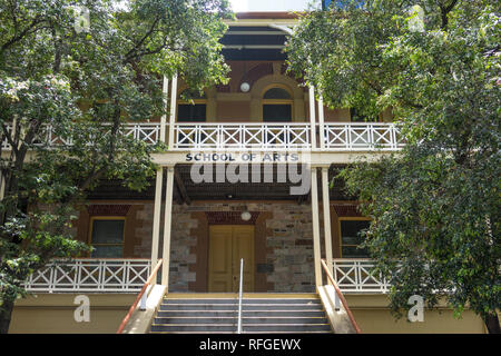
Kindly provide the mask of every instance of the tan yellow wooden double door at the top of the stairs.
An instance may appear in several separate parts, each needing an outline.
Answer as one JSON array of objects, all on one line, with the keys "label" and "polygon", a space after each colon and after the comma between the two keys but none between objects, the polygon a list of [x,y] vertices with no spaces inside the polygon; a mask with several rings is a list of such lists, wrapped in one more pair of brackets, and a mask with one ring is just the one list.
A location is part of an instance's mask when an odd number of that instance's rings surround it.
[{"label": "tan yellow wooden double door at the top of the stairs", "polygon": [[254,226],[209,226],[208,291],[238,293],[240,258],[244,291],[254,291]]}]

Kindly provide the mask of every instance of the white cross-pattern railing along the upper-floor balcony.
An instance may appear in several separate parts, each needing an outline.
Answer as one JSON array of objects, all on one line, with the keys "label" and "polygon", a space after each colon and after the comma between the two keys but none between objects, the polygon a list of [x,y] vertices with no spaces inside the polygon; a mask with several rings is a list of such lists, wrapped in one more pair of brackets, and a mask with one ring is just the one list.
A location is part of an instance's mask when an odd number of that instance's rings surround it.
[{"label": "white cross-pattern railing along the upper-floor balcony", "polygon": [[[10,127],[8,128],[11,129]],[[169,131],[168,125],[165,127]],[[122,135],[148,145],[160,140],[159,122],[126,123]],[[320,135],[322,132],[322,135]],[[168,135],[166,135],[168,137]],[[326,122],[317,123],[315,135],[307,122],[287,123],[175,123],[171,136],[173,151],[187,150],[318,150],[318,151],[397,151],[404,146],[400,128],[387,122]],[[312,137],[314,142],[312,142]],[[47,126],[38,138],[38,145],[70,146],[71,141],[57,137]],[[7,140],[2,150],[10,150]]]}]

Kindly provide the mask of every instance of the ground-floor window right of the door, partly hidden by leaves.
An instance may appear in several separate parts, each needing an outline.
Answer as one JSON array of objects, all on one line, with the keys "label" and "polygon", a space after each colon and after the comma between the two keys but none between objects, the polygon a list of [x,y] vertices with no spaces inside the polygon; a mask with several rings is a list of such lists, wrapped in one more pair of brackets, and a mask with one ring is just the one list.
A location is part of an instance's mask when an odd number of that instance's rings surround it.
[{"label": "ground-floor window right of the door, partly hidden by leaves", "polygon": [[367,219],[340,218],[341,257],[343,258],[366,258],[369,251],[358,248],[364,238],[361,231],[369,228],[371,224]]}]

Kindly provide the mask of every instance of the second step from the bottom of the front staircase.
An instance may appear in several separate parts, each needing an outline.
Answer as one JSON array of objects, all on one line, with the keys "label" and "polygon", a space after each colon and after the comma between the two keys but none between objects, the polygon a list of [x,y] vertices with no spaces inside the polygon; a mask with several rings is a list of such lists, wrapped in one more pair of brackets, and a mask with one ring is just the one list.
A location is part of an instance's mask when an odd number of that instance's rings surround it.
[{"label": "second step from the bottom of the front staircase", "polygon": [[[197,324],[234,324],[236,325],[238,319],[233,317],[156,317],[155,325],[197,325]],[[327,324],[327,319],[324,317],[243,317],[242,324]]]}]

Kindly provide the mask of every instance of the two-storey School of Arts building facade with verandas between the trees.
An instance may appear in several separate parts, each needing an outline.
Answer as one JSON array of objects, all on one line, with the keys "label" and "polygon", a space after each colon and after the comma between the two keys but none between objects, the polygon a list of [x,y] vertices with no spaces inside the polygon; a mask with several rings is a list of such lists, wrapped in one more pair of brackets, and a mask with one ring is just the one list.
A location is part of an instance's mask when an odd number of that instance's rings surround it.
[{"label": "two-storey School of Arts building facade with verandas between the trees", "polygon": [[[158,284],[183,296],[238,293],[242,259],[246,294],[317,294],[328,284],[324,259],[364,333],[485,332],[472,313],[456,320],[445,306],[423,323],[390,315],[389,286],[357,248],[369,218],[335,176],[404,142],[390,111],[362,118],[326,108],[287,73],[283,48],[295,21],[238,13],[222,40],[228,85],[193,96],[165,78],[170,115],[126,126],[126,135],[167,144],[154,156],[156,179],[143,192],[119,181],[91,192],[73,233],[94,253],[35,274],[27,287],[38,297],[17,304],[11,333],[115,333],[160,259]],[[90,300],[88,322],[75,317],[79,295]]]}]

